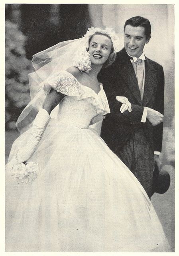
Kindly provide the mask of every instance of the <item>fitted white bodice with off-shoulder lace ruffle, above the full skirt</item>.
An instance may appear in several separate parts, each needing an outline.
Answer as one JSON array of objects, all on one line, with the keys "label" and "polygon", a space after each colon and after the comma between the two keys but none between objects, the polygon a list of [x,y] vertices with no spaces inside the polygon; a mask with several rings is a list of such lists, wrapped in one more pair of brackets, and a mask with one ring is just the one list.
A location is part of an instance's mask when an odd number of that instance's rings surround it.
[{"label": "fitted white bodice with off-shoulder lace ruffle, above the full skirt", "polygon": [[80,84],[72,74],[63,71],[51,76],[43,84],[43,89],[47,92],[51,87],[65,94],[65,98],[59,103],[57,114],[57,119],[61,122],[88,128],[91,121],[94,123],[110,113],[102,84],[100,92],[96,94],[91,88]]}]

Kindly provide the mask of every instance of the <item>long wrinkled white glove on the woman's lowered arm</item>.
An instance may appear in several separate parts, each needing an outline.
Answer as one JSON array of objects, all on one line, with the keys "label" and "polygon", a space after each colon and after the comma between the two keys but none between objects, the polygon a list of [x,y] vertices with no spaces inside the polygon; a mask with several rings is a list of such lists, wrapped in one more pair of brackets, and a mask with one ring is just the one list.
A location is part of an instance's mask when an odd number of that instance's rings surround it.
[{"label": "long wrinkled white glove on the woman's lowered arm", "polygon": [[18,163],[23,163],[31,157],[43,135],[49,120],[50,116],[48,112],[41,108],[33,121],[30,134],[27,138],[26,146],[20,148],[16,154],[16,161]]}]

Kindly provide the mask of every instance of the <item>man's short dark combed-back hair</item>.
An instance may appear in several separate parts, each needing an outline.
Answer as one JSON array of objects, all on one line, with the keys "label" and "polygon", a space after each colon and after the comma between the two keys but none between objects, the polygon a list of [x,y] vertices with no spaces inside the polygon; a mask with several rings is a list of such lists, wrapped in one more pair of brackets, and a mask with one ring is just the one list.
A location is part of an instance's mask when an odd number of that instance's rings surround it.
[{"label": "man's short dark combed-back hair", "polygon": [[129,20],[126,20],[124,24],[124,31],[127,25],[131,25],[133,27],[143,27],[145,28],[146,38],[151,37],[151,25],[148,19],[141,16],[132,17]]}]

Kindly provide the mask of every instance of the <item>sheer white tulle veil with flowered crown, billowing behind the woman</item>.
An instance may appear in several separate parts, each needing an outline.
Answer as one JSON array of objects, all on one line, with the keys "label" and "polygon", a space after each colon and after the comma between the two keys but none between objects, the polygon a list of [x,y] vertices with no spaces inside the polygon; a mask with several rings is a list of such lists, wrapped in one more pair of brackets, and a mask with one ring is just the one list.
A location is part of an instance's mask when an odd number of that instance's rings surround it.
[{"label": "sheer white tulle veil with flowered crown, billowing behind the woman", "polygon": [[[45,90],[41,86],[52,76],[57,76],[59,72],[66,70],[70,66],[78,66],[81,71],[90,70],[89,53],[87,52],[89,37],[95,32],[105,32],[112,39],[114,50],[118,38],[111,28],[102,30],[100,28],[89,28],[82,38],[59,42],[58,44],[38,52],[33,55],[32,64],[35,72],[28,74],[30,85],[30,103],[20,114],[16,126],[22,134],[31,127],[35,116],[43,105],[46,95],[51,87],[46,86]],[[51,112],[53,118],[56,117],[58,106]]]}]

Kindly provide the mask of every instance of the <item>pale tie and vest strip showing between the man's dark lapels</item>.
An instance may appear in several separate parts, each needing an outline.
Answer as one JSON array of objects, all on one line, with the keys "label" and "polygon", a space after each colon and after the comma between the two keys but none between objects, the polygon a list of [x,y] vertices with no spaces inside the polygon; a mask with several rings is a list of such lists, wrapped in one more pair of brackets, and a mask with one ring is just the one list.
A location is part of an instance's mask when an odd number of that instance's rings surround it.
[{"label": "pale tie and vest strip showing between the man's dark lapels", "polygon": [[143,88],[143,81],[144,81],[144,63],[142,62],[141,59],[137,59],[135,61],[135,65],[136,65],[136,76],[137,76],[137,80],[138,80],[138,86],[139,86],[139,90],[140,90],[140,96],[141,99],[143,99],[143,95],[144,95],[144,88]]}]

